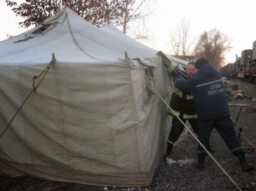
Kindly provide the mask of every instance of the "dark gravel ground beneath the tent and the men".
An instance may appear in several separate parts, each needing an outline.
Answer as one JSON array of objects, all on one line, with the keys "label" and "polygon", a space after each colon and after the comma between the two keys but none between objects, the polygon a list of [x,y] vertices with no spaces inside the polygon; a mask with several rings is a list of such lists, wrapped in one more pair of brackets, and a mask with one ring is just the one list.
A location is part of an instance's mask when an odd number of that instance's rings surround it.
[{"label": "dark gravel ground beneath the tent and the men", "polygon": [[[243,82],[237,79],[230,79],[238,84],[239,90],[245,90],[245,94],[256,97],[256,84]],[[230,100],[230,103],[256,104],[252,99]],[[240,107],[230,107],[231,118],[236,121]],[[241,142],[246,151],[246,159],[249,163],[256,167],[256,112],[248,113],[247,108],[243,107],[238,118],[236,128],[243,128]],[[243,137],[244,136],[244,137]],[[174,146],[173,160],[188,162],[187,164],[166,163],[163,159],[158,168],[156,168],[152,184],[141,188],[118,188],[118,187],[102,187],[89,186],[81,184],[72,184],[66,182],[55,182],[49,180],[38,180],[32,177],[1,177],[1,191],[28,191],[28,190],[43,190],[43,191],[96,191],[96,190],[256,190],[256,172],[243,172],[241,170],[238,159],[234,157],[226,147],[225,143],[220,138],[216,130],[212,131],[210,144],[216,149],[212,153],[214,159],[221,165],[228,175],[226,175],[220,167],[214,162],[210,156],[205,160],[205,170],[198,171],[195,168],[197,160],[195,138],[188,133],[187,137]],[[186,160],[187,159],[187,160]],[[232,180],[230,180],[230,178]],[[235,185],[237,184],[240,189]]]}]

